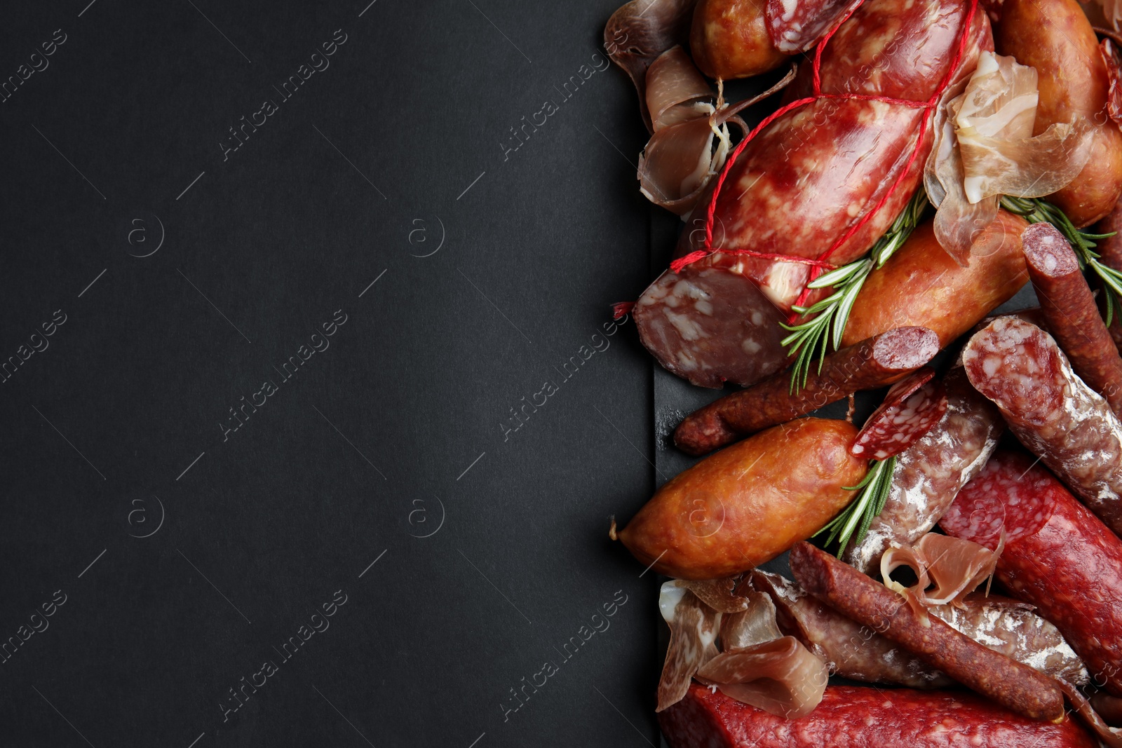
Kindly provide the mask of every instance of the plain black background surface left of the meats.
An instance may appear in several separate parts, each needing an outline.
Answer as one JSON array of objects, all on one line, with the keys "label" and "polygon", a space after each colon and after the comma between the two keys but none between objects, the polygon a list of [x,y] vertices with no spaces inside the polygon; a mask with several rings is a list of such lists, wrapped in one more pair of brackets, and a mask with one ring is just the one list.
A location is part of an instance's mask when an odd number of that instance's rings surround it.
[{"label": "plain black background surface left of the meats", "polygon": [[0,384],[0,641],[66,602],[0,664],[0,745],[657,742],[656,580],[606,537],[654,486],[650,360],[628,322],[559,371],[668,225],[626,76],[554,87],[617,2],[368,2],[4,10],[0,80],[66,40],[0,103],[0,361],[66,321]]}]

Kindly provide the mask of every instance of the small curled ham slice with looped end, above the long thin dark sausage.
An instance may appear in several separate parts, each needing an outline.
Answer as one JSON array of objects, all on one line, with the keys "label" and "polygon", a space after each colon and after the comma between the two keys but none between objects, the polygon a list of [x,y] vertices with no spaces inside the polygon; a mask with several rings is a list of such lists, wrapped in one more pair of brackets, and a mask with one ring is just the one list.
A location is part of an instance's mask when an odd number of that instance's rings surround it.
[{"label": "small curled ham slice with looped end, above the long thin dark sausage", "polygon": [[[973,541],[928,533],[914,546],[893,544],[885,551],[881,578],[886,587],[908,598],[917,612],[931,606],[962,608],[963,599],[993,575],[1003,546],[1004,535],[997,550],[991,551]],[[892,572],[905,565],[916,570],[919,580],[910,588],[892,579]],[[935,588],[928,590],[929,583]]]}]

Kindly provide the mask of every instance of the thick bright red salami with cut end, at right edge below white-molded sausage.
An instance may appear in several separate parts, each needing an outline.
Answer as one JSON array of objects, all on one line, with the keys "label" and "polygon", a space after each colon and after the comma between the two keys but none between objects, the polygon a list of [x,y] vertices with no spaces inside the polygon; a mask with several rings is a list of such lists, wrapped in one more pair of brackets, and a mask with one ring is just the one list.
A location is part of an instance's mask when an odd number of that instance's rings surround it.
[{"label": "thick bright red salami with cut end, at right edge below white-molded sausage", "polygon": [[990,548],[1004,530],[997,579],[1056,625],[1095,685],[1122,695],[1122,541],[1055,477],[999,452],[939,526]]}]

